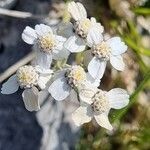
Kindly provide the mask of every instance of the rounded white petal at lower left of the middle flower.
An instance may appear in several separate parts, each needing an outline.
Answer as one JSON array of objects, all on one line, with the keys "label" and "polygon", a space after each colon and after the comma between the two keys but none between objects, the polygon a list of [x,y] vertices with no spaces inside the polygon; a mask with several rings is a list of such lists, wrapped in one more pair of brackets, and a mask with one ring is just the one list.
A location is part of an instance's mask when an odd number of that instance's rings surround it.
[{"label": "rounded white petal at lower left of the middle flower", "polygon": [[55,100],[61,101],[69,96],[71,87],[67,84],[66,78],[62,77],[55,80],[50,85],[48,91]]}]

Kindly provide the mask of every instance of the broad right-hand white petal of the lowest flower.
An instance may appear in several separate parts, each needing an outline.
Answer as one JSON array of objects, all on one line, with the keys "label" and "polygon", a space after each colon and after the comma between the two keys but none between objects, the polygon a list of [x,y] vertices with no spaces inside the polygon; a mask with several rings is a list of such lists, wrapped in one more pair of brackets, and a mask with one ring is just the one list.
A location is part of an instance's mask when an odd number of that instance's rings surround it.
[{"label": "broad right-hand white petal of the lowest flower", "polygon": [[129,95],[126,90],[115,88],[107,92],[111,108],[120,109],[129,103]]}]

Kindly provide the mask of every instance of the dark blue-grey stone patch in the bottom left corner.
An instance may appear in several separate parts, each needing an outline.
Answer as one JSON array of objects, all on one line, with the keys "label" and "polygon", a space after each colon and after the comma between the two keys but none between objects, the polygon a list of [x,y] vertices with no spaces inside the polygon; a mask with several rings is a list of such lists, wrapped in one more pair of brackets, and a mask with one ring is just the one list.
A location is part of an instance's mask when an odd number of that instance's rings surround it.
[{"label": "dark blue-grey stone patch in the bottom left corner", "polygon": [[38,150],[42,129],[34,113],[24,108],[21,91],[0,94],[0,150]]}]

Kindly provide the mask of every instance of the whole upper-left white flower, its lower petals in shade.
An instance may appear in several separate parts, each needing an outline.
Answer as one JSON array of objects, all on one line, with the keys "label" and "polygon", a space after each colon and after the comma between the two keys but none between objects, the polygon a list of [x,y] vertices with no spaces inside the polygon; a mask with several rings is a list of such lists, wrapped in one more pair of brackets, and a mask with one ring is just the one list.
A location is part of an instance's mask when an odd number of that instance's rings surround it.
[{"label": "whole upper-left white flower, its lower petals in shade", "polygon": [[27,26],[22,33],[22,39],[35,46],[36,63],[45,69],[50,68],[52,58],[64,59],[69,55],[69,51],[63,47],[66,38],[54,34],[50,26],[39,24],[35,29]]}]

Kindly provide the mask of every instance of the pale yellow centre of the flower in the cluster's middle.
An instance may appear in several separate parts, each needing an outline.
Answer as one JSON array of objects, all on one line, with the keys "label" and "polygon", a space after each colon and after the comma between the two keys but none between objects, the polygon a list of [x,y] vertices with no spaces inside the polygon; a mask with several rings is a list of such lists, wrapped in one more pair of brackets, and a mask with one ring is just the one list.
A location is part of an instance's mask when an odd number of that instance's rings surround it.
[{"label": "pale yellow centre of the flower in the cluster's middle", "polygon": [[78,86],[86,80],[86,73],[81,66],[73,66],[68,73],[69,83]]}]

